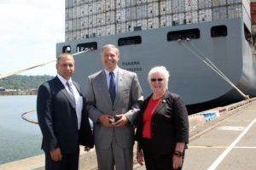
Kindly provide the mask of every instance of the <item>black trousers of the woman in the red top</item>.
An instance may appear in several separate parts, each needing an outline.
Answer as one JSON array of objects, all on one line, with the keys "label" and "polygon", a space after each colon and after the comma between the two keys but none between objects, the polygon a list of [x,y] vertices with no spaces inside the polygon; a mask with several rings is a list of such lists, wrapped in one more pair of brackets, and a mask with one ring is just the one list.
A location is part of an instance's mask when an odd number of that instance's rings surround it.
[{"label": "black trousers of the woman in the red top", "polygon": [[[172,154],[160,154],[154,150],[151,139],[143,139],[142,143],[143,156],[147,170],[171,170]],[[182,167],[178,168],[178,170]]]}]

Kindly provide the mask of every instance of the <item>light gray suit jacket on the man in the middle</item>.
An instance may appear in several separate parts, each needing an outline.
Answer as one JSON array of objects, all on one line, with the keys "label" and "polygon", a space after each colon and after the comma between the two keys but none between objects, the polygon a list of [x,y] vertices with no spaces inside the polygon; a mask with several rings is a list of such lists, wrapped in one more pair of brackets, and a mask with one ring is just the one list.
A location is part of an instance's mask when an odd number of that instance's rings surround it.
[{"label": "light gray suit jacket on the man in the middle", "polygon": [[[132,124],[143,102],[143,91],[138,82],[137,74],[118,69],[118,90],[113,105],[108,92],[104,70],[88,77],[85,96],[89,117],[94,122],[96,147],[108,149],[113,133],[120,147],[130,147],[134,142],[134,128]],[[127,123],[124,127],[104,127],[98,120],[102,114],[110,116],[125,114],[130,123]]]}]

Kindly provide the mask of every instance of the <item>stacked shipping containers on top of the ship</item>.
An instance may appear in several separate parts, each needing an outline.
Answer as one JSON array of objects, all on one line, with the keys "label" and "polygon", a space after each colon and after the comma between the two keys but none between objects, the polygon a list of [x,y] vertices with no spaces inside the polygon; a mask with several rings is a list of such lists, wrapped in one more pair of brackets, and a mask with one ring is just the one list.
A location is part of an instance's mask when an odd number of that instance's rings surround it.
[{"label": "stacked shipping containers on top of the ship", "polygon": [[248,1],[66,0],[65,39],[72,41],[241,17]]}]

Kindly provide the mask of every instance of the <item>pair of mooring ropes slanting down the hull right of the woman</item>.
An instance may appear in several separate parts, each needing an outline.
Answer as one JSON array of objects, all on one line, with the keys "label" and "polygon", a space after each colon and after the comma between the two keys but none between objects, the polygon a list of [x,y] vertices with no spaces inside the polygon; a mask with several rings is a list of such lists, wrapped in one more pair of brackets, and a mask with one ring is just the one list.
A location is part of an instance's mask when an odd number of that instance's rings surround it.
[{"label": "pair of mooring ropes slanting down the hull right of the woman", "polygon": [[181,39],[178,39],[177,42],[181,43],[181,44],[182,44],[185,48],[187,48],[192,54],[195,54],[195,56],[196,56],[198,59],[200,59],[203,63],[205,63],[207,66],[209,66],[209,67],[210,67],[213,71],[215,71],[220,77],[222,77],[222,78],[224,79],[224,81],[228,82],[228,83],[230,84],[230,86],[232,86],[233,88],[235,88],[235,89],[237,90],[237,92],[238,92],[239,94],[241,94],[241,95],[244,97],[244,99],[250,99],[250,97],[249,97],[248,95],[243,94],[243,93],[241,92],[241,90],[240,90],[239,88],[237,88],[236,85],[235,85],[233,82],[231,82],[230,79],[229,79],[228,77],[226,77],[226,76],[224,75],[224,73],[223,73],[222,71],[220,71],[220,70],[218,69],[218,67],[217,67],[216,65],[214,65],[214,64],[212,63],[212,61],[211,61],[210,59],[208,59],[207,56],[204,55],[204,54],[201,52],[201,50],[195,46],[195,44],[194,44],[193,42],[190,41],[189,37],[186,38],[186,42],[189,42],[189,44],[191,44],[191,46],[192,46],[193,48],[195,48],[195,49],[198,51],[199,54],[197,54],[197,53],[195,52],[195,50],[193,50],[192,48],[189,48],[189,46],[188,46],[187,44],[183,43]]}]

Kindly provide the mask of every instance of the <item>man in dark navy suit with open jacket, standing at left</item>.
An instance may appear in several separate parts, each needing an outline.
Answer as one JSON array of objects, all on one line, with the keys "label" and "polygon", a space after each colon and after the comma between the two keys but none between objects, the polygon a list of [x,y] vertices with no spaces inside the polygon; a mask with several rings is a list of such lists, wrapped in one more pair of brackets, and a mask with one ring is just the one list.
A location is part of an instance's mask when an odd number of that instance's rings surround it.
[{"label": "man in dark navy suit with open jacket, standing at left", "polygon": [[79,168],[79,144],[89,151],[93,137],[81,88],[71,79],[73,55],[61,54],[56,69],[57,76],[38,88],[38,123],[43,133],[45,169],[75,170]]}]

